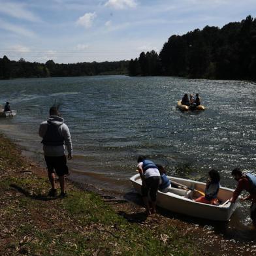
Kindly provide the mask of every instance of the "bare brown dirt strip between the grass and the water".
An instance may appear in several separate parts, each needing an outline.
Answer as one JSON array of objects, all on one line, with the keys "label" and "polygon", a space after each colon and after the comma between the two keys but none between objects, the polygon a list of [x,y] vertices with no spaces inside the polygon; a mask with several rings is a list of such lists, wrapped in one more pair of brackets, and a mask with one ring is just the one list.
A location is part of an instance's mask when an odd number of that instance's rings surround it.
[{"label": "bare brown dirt strip between the grass and the water", "polygon": [[[0,140],[2,139],[3,136],[0,135]],[[16,152],[13,152],[13,155],[14,157],[16,156],[16,158],[20,157],[23,159],[25,163],[24,167],[20,167],[19,170],[12,170],[12,167],[7,168],[7,166],[5,166],[5,169],[0,168],[2,170],[0,177],[19,177],[32,173],[40,178],[46,179],[46,170],[28,157],[21,157],[21,148],[17,145],[15,145],[15,147]],[[78,184],[70,180],[67,183],[68,191],[69,188],[74,185],[76,188],[82,189],[82,191],[97,193],[97,195],[103,198],[106,204],[111,206],[118,216],[122,216],[129,223],[137,223],[137,225],[147,229],[164,230],[165,227],[176,227],[178,232],[180,232],[180,236],[192,237],[191,243],[197,245],[200,251],[199,255],[256,255],[256,238],[249,242],[225,239],[221,233],[208,229],[207,225],[189,223],[189,221],[186,221],[186,217],[180,218],[180,216],[162,209],[157,209],[157,214],[154,216],[146,217],[144,215],[144,208],[142,207],[142,200],[139,197],[136,197],[132,202],[128,201],[127,197],[123,194],[113,193],[113,191],[108,191],[107,189],[99,190],[90,184]],[[255,231],[252,230],[251,232]],[[168,237],[169,236],[170,234],[168,234]],[[165,240],[165,238],[163,238],[163,240]]]}]

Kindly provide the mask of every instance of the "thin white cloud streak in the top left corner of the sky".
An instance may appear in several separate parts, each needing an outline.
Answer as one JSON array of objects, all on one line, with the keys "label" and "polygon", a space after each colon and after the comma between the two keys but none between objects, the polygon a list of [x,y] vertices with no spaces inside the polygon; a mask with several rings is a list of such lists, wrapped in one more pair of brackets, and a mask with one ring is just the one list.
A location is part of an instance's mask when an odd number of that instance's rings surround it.
[{"label": "thin white cloud streak in the top left corner of the sky", "polygon": [[26,10],[25,6],[20,3],[0,1],[0,12],[21,20],[29,20],[30,22],[38,22],[40,20],[39,17],[35,16],[33,12]]}]

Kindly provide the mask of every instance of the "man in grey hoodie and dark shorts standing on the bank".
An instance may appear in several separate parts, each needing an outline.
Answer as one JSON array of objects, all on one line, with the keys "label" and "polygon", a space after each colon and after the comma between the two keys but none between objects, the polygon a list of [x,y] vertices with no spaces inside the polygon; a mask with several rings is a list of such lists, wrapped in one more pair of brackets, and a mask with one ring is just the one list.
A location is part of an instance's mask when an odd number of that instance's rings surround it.
[{"label": "man in grey hoodie and dark shorts standing on the bank", "polygon": [[[39,127],[39,136],[42,137],[44,159],[48,169],[48,178],[52,185],[48,195],[56,197],[57,189],[55,184],[55,172],[59,176],[61,186],[60,197],[65,197],[65,175],[69,174],[67,159],[65,156],[65,145],[67,147],[68,159],[72,159],[72,141],[69,127],[59,117],[56,106],[50,108],[50,117],[43,121]],[[64,144],[65,142],[65,144]],[[55,172],[54,172],[55,170]]]}]

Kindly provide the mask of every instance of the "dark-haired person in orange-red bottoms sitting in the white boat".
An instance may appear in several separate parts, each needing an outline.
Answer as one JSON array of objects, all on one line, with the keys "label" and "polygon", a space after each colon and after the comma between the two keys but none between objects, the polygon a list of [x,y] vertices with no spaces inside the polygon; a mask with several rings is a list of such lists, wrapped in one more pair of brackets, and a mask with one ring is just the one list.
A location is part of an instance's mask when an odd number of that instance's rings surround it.
[{"label": "dark-haired person in orange-red bottoms sitting in the white boat", "polygon": [[206,182],[205,195],[195,199],[195,202],[202,202],[204,204],[217,204],[217,193],[219,192],[219,181],[221,180],[217,170],[210,170],[208,172],[209,178]]}]

